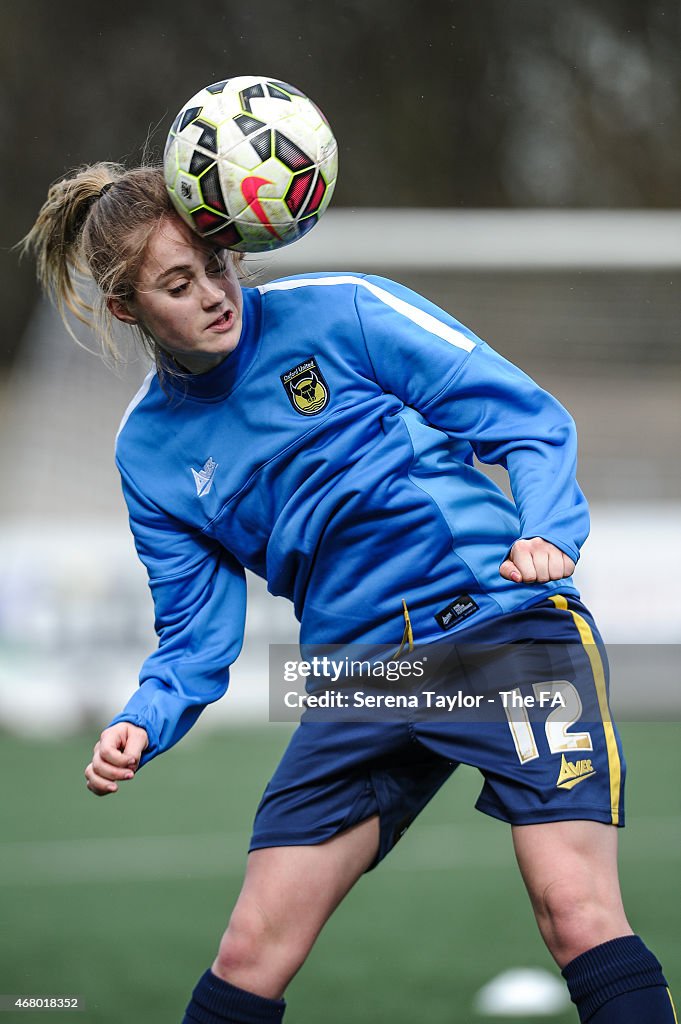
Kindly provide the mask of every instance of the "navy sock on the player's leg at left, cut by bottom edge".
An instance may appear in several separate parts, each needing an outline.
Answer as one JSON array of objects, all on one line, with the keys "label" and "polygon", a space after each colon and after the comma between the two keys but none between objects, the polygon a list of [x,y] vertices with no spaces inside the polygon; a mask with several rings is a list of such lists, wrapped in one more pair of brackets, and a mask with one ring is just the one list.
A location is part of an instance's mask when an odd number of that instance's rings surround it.
[{"label": "navy sock on the player's leg at left, cut by bottom edge", "polygon": [[222,981],[208,970],[201,976],[182,1024],[278,1024],[284,999],[267,999]]}]

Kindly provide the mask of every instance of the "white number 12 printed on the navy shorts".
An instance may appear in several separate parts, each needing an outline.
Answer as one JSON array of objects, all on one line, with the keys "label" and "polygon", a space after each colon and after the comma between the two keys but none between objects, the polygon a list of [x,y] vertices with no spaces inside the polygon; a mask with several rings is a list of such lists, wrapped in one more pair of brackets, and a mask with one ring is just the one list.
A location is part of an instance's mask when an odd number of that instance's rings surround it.
[{"label": "white number 12 printed on the navy shorts", "polygon": [[[553,707],[553,711],[549,712],[544,723],[547,742],[552,754],[593,750],[589,732],[567,731],[582,716],[582,700],[572,683],[566,679],[533,683],[533,690],[535,691],[533,703],[540,708]],[[504,690],[503,693],[502,703],[515,751],[520,764],[524,764],[539,757],[535,733],[527,715],[528,701],[522,696],[519,687]]]}]

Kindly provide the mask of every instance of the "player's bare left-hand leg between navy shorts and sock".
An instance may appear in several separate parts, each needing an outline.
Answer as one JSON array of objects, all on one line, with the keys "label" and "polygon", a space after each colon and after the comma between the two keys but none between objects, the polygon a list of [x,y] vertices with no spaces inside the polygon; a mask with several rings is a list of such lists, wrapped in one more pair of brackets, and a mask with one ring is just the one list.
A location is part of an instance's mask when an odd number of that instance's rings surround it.
[{"label": "player's bare left-hand leg between navy shorts and sock", "polygon": [[251,853],[213,973],[248,992],[281,998],[331,913],[374,860],[378,843],[375,816],[318,846]]}]

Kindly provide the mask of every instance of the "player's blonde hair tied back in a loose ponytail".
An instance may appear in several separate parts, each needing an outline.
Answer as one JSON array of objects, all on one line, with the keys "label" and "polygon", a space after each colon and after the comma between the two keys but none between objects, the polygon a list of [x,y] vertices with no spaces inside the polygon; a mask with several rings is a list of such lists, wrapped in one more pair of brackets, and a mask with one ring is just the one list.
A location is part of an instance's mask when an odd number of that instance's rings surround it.
[{"label": "player's blonde hair tied back in a loose ponytail", "polygon": [[[118,322],[108,302],[129,303],[134,298],[134,282],[150,238],[168,216],[177,214],[160,167],[126,170],[121,164],[91,164],[50,187],[20,243],[23,253],[34,255],[38,281],[69,334],[79,341],[71,312],[94,331],[103,354],[114,362],[121,357],[114,333]],[[237,254],[231,255],[237,262]],[[91,281],[96,285],[92,300]],[[167,372],[167,357],[144,326],[135,325],[133,330],[157,367]]]}]

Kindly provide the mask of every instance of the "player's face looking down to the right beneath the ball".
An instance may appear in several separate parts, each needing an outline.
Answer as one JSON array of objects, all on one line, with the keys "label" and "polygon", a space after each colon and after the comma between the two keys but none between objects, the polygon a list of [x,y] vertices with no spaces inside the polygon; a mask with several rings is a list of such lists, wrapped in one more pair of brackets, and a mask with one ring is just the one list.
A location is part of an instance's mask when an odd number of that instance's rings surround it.
[{"label": "player's face looking down to the right beneath the ball", "polygon": [[191,373],[217,366],[239,344],[243,299],[232,260],[179,217],[165,217],[152,236],[129,309]]}]

